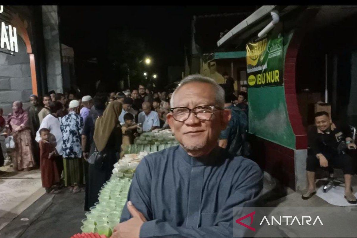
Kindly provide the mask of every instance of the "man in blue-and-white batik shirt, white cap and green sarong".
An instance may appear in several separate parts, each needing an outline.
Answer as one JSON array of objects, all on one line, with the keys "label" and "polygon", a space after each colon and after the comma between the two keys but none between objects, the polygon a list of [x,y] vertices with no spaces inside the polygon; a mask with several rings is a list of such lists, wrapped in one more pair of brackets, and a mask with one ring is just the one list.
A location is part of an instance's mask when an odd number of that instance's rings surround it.
[{"label": "man in blue-and-white batik shirt, white cap and green sarong", "polygon": [[61,118],[63,134],[63,166],[65,186],[71,186],[70,191],[79,192],[79,185],[84,184],[82,161],[81,133],[83,118],[77,114],[79,101],[69,103],[68,115]]}]

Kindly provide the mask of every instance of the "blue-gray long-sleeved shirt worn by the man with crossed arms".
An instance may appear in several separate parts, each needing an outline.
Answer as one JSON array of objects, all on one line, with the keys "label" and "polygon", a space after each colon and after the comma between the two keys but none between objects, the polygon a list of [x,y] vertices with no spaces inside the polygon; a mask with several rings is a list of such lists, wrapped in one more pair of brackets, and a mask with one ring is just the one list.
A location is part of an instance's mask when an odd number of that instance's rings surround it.
[{"label": "blue-gray long-sleeved shirt worn by the man with crossed arms", "polygon": [[[140,237],[232,237],[235,206],[254,206],[263,187],[259,166],[220,147],[189,156],[174,146],[146,156],[128,201],[147,219]],[[120,222],[131,216],[124,206]]]}]

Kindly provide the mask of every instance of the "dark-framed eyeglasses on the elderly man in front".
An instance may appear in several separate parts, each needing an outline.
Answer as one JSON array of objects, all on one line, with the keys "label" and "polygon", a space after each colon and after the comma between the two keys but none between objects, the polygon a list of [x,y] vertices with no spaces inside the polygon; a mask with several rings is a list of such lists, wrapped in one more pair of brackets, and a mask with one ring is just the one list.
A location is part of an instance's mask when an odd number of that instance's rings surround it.
[{"label": "dark-framed eyeglasses on the elderly man in front", "polygon": [[181,122],[186,121],[190,117],[191,112],[195,114],[198,120],[211,120],[213,113],[220,110],[222,109],[215,106],[198,106],[192,109],[188,107],[174,107],[170,109],[174,119]]}]

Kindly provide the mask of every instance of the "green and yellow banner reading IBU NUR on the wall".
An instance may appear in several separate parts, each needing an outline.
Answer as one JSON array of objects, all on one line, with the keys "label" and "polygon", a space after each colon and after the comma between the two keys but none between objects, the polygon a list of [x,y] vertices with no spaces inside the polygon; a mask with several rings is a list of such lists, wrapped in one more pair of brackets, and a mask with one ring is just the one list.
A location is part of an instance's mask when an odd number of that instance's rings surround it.
[{"label": "green and yellow banner reading IBU NUR on the wall", "polygon": [[265,38],[247,46],[248,86],[283,84],[283,38]]}]

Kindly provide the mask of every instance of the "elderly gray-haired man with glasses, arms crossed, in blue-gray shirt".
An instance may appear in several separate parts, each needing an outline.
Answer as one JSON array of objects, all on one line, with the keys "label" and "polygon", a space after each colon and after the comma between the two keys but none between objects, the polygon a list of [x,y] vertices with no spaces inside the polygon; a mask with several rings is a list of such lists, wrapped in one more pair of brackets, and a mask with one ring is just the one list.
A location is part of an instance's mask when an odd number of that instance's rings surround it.
[{"label": "elderly gray-haired man with glasses, arms crossed, in blue-gray shirt", "polygon": [[113,238],[233,236],[233,207],[254,206],[263,174],[218,146],[231,118],[224,99],[210,78],[181,81],[167,114],[180,145],[142,159]]}]

